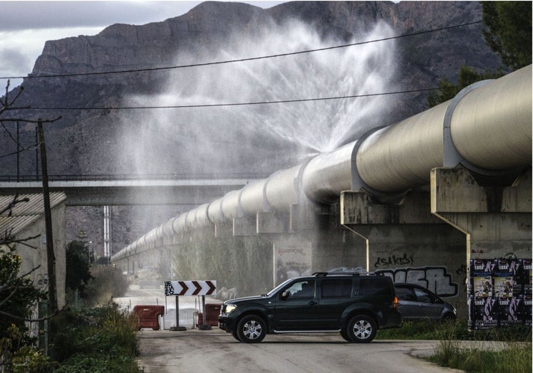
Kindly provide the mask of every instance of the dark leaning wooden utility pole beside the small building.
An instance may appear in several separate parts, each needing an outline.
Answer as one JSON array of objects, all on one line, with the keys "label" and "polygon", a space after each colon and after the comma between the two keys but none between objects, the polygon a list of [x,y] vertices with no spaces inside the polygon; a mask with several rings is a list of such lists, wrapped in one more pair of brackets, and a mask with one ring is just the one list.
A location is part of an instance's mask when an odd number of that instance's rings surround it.
[{"label": "dark leaning wooden utility pole beside the small building", "polygon": [[50,310],[58,310],[56,295],[56,256],[53,253],[53,233],[52,233],[52,211],[50,207],[50,192],[48,191],[48,168],[46,167],[46,146],[44,144],[43,121],[37,120],[39,145],[41,147],[41,170],[43,172],[43,201],[44,201],[44,222],[46,226],[46,264],[48,266],[48,297],[50,299]]}]

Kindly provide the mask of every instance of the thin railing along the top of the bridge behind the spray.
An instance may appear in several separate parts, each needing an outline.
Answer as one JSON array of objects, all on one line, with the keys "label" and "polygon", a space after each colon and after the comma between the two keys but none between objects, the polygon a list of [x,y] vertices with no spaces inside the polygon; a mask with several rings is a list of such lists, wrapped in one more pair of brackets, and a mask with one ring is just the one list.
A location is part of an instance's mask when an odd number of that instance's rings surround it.
[{"label": "thin railing along the top of the bridge behind the spray", "polygon": [[[265,179],[271,173],[216,173],[216,174],[78,174],[48,175],[49,182],[86,182],[117,180],[207,180],[207,179]],[[40,182],[42,175],[0,175],[0,182]]]}]

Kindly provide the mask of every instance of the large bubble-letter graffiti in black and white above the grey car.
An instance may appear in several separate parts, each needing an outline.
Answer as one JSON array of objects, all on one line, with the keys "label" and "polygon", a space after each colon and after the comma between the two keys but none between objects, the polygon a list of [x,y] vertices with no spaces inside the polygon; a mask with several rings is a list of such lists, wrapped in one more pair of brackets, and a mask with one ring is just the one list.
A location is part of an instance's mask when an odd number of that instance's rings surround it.
[{"label": "large bubble-letter graffiti in black and white above the grey car", "polygon": [[394,283],[421,285],[440,297],[455,297],[458,293],[459,285],[452,282],[452,275],[445,266],[380,269],[376,273],[389,276]]}]

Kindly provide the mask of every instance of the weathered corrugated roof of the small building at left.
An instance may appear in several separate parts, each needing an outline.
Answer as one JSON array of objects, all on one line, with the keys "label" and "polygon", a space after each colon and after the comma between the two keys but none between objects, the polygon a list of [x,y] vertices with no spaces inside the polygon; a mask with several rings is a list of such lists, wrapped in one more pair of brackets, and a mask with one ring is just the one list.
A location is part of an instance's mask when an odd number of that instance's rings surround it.
[{"label": "weathered corrugated roof of the small building at left", "polygon": [[[0,211],[14,201],[15,196],[0,196]],[[0,214],[0,236],[6,233],[16,236],[24,228],[44,215],[43,194],[19,194],[17,201],[28,199],[25,202],[15,204],[10,210]],[[66,200],[66,194],[62,191],[50,194],[50,206],[54,207]]]}]

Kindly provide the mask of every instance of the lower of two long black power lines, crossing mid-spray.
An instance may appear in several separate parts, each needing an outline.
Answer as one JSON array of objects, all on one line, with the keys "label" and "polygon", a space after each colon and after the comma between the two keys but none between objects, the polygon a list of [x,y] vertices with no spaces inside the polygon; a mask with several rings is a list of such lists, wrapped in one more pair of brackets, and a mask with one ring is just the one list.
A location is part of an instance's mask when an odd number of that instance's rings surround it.
[{"label": "lower of two long black power lines, crossing mid-spray", "polygon": [[365,98],[384,95],[398,95],[401,93],[418,93],[439,88],[423,88],[419,90],[398,90],[384,93],[368,93],[366,95],[333,96],[326,98],[301,98],[296,100],[257,101],[253,103],[220,103],[198,105],[167,105],[167,106],[118,106],[118,107],[25,107],[24,110],[140,110],[140,109],[185,109],[195,107],[224,107],[224,106],[247,106],[247,105],[270,105],[281,103],[304,103],[309,101],[343,100],[347,98]]}]

